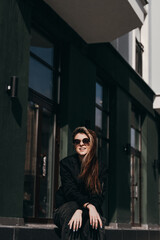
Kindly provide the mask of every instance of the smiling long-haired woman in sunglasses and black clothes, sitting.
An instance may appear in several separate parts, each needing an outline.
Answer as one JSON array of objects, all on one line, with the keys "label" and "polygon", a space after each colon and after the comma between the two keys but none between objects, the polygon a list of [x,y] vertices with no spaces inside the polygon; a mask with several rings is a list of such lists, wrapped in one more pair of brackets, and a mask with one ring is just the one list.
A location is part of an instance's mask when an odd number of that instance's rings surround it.
[{"label": "smiling long-haired woman in sunglasses and black clothes, sitting", "polygon": [[104,239],[102,202],[106,168],[98,163],[96,134],[85,127],[73,132],[76,154],[60,162],[61,187],[56,195],[54,223],[61,239]]}]

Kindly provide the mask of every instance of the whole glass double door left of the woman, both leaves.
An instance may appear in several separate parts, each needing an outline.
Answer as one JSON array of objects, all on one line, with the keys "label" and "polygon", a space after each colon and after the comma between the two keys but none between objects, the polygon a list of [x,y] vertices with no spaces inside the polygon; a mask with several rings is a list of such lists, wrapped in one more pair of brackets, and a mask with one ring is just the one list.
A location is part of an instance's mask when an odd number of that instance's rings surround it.
[{"label": "whole glass double door left of the woman, both leaves", "polygon": [[24,217],[51,218],[54,193],[55,114],[29,102]]}]

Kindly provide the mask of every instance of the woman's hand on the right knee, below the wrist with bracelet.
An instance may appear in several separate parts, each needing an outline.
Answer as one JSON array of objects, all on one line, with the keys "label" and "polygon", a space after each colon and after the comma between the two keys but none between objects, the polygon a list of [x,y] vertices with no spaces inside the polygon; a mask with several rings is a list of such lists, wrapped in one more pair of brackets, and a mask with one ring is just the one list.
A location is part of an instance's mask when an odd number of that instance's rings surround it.
[{"label": "woman's hand on the right knee, below the wrist with bracelet", "polygon": [[92,204],[88,204],[87,208],[89,209],[89,219],[90,219],[90,224],[92,225],[92,228],[97,229],[98,225],[102,228],[102,220],[95,206]]}]

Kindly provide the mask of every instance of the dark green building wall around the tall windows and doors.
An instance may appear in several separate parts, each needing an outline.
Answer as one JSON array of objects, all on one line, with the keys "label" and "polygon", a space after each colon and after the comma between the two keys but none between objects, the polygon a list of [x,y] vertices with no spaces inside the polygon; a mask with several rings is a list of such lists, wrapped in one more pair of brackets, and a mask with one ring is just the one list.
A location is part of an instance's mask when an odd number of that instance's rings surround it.
[{"label": "dark green building wall around the tall windows and doors", "polygon": [[[35,4],[33,4],[35,3]],[[158,221],[158,130],[153,92],[109,44],[87,46],[43,1],[0,1],[0,217],[23,216],[23,183],[28,99],[30,24],[46,30],[62,53],[61,152],[73,151],[71,133],[80,125],[94,129],[95,82],[110,88],[109,221],[130,222],[131,103],[143,109],[142,222]],[[10,76],[19,77],[18,98],[6,93]],[[62,154],[63,155],[63,154]]]}]

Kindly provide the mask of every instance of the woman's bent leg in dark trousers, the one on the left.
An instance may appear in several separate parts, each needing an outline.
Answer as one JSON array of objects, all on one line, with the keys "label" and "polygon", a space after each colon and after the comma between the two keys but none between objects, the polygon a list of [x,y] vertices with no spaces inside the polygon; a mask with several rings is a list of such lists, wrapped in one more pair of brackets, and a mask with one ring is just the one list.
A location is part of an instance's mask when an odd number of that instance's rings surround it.
[{"label": "woman's bent leg in dark trousers, the one on the left", "polygon": [[78,240],[80,239],[80,233],[73,233],[72,230],[69,229],[68,222],[73,216],[74,212],[78,209],[78,204],[74,201],[67,202],[63,204],[61,207],[55,210],[53,214],[54,223],[61,230],[61,240]]}]

